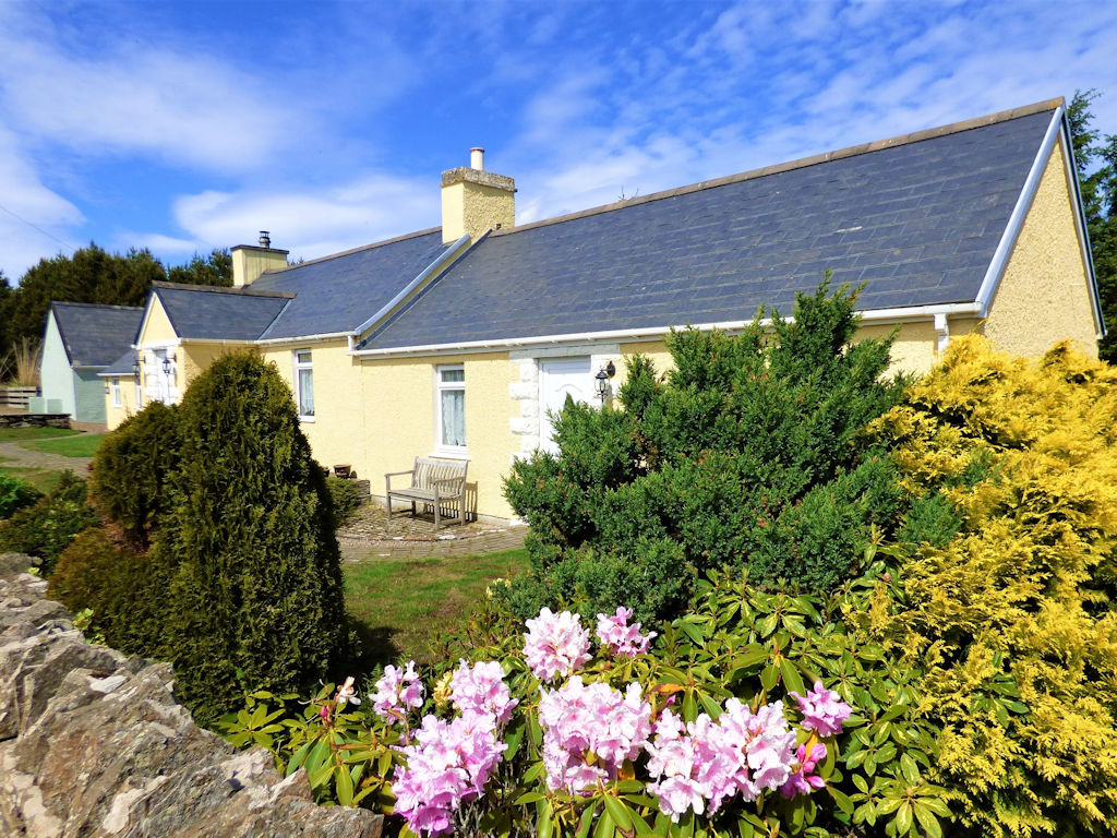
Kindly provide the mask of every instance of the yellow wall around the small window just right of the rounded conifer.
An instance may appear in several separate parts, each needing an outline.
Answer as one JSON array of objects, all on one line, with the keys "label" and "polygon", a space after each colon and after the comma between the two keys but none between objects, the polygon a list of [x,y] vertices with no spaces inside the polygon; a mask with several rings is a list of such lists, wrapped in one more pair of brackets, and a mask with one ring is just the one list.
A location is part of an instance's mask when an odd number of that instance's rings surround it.
[{"label": "yellow wall around the small window just right of the rounded conifer", "polygon": [[[347,464],[359,477],[369,477],[366,410],[362,391],[369,387],[345,341],[261,346],[266,361],[275,362],[287,385],[295,390],[295,350],[309,350],[314,364],[314,419],[303,420],[303,432],[319,465]],[[375,492],[376,482],[373,480]]]}]

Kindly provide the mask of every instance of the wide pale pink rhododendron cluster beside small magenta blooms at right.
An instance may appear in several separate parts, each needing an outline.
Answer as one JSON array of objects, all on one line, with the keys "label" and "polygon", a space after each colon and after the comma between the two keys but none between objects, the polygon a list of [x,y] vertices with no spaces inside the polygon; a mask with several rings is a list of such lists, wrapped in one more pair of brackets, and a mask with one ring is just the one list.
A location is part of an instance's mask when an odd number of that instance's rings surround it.
[{"label": "wide pale pink rhododendron cluster beside small magenta blooms at right", "polygon": [[703,713],[687,725],[668,710],[647,747],[648,771],[658,779],[648,791],[676,822],[687,809],[715,812],[737,794],[755,800],[789,781],[794,744],[782,702],[753,713],[729,698],[717,722]]}]

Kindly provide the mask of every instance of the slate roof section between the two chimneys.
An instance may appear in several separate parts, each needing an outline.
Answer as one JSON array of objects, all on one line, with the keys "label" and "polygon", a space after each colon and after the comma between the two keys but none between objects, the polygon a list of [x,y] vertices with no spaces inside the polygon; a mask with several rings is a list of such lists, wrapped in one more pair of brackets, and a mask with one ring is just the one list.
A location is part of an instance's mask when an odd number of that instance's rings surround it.
[{"label": "slate roof section between the two chimneys", "polygon": [[352,332],[446,250],[440,230],[423,230],[264,274],[254,292],[296,296],[261,337]]}]

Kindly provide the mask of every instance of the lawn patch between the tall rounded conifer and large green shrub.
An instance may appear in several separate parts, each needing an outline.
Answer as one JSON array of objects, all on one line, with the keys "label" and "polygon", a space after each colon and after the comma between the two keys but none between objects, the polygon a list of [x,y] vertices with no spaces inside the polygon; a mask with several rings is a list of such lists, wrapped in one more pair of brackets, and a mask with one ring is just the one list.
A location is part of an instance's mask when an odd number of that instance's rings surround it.
[{"label": "lawn patch between the tall rounded conifer and large green shrub", "polygon": [[361,664],[432,663],[430,644],[461,626],[491,580],[526,570],[526,550],[346,564],[345,604],[357,623]]}]

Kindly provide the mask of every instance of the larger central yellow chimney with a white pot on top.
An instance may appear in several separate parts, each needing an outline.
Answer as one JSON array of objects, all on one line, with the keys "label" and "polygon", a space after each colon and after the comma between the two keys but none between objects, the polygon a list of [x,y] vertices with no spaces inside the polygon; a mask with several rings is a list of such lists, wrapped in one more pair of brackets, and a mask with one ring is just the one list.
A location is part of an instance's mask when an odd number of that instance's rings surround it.
[{"label": "larger central yellow chimney with a white pot on top", "polygon": [[442,172],[442,242],[465,234],[476,241],[488,230],[516,225],[516,181],[485,171],[485,150],[469,150],[469,166]]}]

